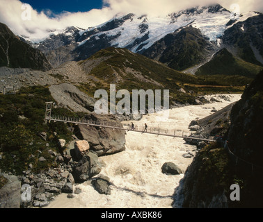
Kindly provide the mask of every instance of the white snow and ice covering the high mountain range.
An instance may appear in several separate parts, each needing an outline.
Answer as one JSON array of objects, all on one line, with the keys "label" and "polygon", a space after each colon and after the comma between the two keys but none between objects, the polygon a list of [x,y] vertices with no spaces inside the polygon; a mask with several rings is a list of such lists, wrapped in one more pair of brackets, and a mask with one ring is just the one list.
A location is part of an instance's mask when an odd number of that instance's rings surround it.
[{"label": "white snow and ice covering the high mountain range", "polygon": [[[241,15],[239,19],[234,22],[234,24],[245,21],[248,17],[255,15],[258,15],[257,12],[246,12]],[[78,27],[74,28],[79,30],[79,35],[81,37],[84,33],[96,31],[97,28],[101,28],[115,19],[122,21],[123,17],[125,17],[124,14],[118,14],[118,17],[116,16],[115,18],[109,20],[109,22],[105,22],[99,26],[87,29]],[[148,17],[147,15],[133,14],[130,19],[127,19],[117,28],[113,28],[108,31],[100,31],[98,33],[95,32],[95,34],[88,36],[84,40],[82,39],[81,42],[78,43],[79,46],[81,46],[92,37],[99,39],[100,35],[106,35],[107,37],[113,37],[113,40],[110,42],[111,46],[129,48],[132,52],[136,53],[143,49],[148,49],[152,46],[152,44],[154,44],[154,42],[157,42],[169,33],[173,33],[179,28],[190,25],[194,28],[199,28],[201,33],[210,41],[218,42],[220,41],[224,31],[234,25],[232,24],[231,26],[226,26],[231,18],[231,12],[228,10],[221,8],[216,12],[211,12],[211,8],[209,7],[183,10],[167,15],[166,17]],[[31,37],[25,37],[25,39],[37,45],[38,43],[44,41],[48,35],[58,35],[59,33],[64,33],[65,36],[74,35],[74,31],[70,32],[67,28],[66,30],[56,30],[51,31],[50,33],[43,33],[42,36],[45,36],[45,38],[35,39],[32,34]]]}]

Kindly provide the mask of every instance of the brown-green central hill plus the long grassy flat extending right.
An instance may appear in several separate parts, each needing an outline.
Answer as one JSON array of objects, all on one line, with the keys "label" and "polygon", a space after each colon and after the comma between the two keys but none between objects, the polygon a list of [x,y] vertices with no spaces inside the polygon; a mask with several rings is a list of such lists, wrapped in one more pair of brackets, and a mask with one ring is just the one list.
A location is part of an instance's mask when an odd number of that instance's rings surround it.
[{"label": "brown-green central hill plus the long grassy flat extending right", "polygon": [[[252,78],[234,76],[193,76],[171,69],[161,62],[131,53],[127,49],[113,47],[95,53],[87,60],[79,62],[90,81],[81,83],[81,89],[94,95],[97,89],[106,89],[115,83],[116,90],[127,89],[169,89],[170,103],[195,103],[198,94],[243,92],[244,85]],[[227,81],[225,80],[227,79]],[[184,88],[186,93],[178,92]],[[189,91],[195,92],[190,94]]]}]

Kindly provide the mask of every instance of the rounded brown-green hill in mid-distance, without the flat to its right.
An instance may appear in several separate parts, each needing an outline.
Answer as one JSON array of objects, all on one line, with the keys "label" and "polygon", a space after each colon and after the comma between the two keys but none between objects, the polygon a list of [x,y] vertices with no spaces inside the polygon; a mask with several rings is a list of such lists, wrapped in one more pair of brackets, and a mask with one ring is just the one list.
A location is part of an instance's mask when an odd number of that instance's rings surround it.
[{"label": "rounded brown-green hill in mid-distance, without the flat to its right", "polygon": [[[145,56],[131,53],[127,49],[113,47],[103,49],[79,65],[95,78],[93,86],[83,83],[82,89],[92,96],[96,89],[109,90],[109,84],[115,84],[116,90],[127,89],[170,89],[170,96],[182,103],[193,102],[193,96],[177,90],[183,83],[197,83],[197,78],[183,74]],[[91,68],[90,68],[91,67]]]}]

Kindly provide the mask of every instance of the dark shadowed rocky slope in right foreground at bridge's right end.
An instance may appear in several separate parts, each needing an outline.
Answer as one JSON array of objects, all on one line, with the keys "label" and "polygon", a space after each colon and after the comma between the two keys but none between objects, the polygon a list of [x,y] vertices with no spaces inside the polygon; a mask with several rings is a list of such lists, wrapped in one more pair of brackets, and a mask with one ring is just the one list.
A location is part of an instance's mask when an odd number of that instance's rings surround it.
[{"label": "dark shadowed rocky slope in right foreground at bridge's right end", "polygon": [[[262,77],[261,71],[230,116],[217,121],[232,153],[219,140],[203,146],[175,190],[177,207],[262,207]],[[214,117],[202,121],[213,124]],[[232,184],[240,187],[239,201],[230,199]]]}]

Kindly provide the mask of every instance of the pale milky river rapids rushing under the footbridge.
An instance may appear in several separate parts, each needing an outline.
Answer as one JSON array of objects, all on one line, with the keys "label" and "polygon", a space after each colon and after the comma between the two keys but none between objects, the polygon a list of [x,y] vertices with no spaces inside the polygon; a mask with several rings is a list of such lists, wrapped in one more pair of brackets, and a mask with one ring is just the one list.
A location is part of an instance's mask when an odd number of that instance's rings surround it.
[{"label": "pale milky river rapids rushing under the footbridge", "polygon": [[[212,114],[212,108],[220,110],[226,105],[238,101],[240,94],[227,95],[230,101],[214,96],[221,102],[205,105],[189,105],[170,110],[169,119],[159,122],[162,128],[176,128],[189,132],[189,123]],[[207,96],[212,97],[212,96]],[[148,114],[135,125],[148,123],[148,128],[157,125],[158,114]],[[170,208],[175,188],[184,174],[168,176],[161,173],[165,162],[173,162],[186,171],[193,158],[184,158],[184,153],[196,152],[196,146],[186,144],[181,138],[157,136],[129,131],[126,135],[126,149],[121,153],[99,157],[106,164],[100,174],[111,180],[111,195],[99,194],[90,182],[79,187],[82,192],[67,198],[67,194],[58,195],[49,208]]]}]

